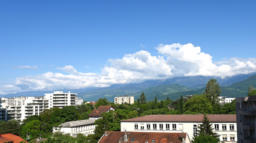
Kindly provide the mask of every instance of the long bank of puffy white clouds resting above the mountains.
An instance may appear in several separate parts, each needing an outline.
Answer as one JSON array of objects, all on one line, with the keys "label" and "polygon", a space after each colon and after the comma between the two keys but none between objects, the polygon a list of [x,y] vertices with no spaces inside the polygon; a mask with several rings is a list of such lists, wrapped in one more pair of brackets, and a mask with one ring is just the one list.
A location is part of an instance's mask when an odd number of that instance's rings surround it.
[{"label": "long bank of puffy white clouds resting above the mountains", "polygon": [[[107,87],[118,83],[138,83],[149,79],[180,76],[234,76],[256,72],[256,58],[231,58],[213,63],[210,54],[192,44],[160,44],[157,56],[148,51],[125,54],[122,59],[109,59],[100,74],[77,72],[72,65],[57,67],[66,73],[47,72],[16,78],[11,85],[0,86],[2,93],[29,90],[78,89]],[[0,93],[1,94],[1,93]]]}]

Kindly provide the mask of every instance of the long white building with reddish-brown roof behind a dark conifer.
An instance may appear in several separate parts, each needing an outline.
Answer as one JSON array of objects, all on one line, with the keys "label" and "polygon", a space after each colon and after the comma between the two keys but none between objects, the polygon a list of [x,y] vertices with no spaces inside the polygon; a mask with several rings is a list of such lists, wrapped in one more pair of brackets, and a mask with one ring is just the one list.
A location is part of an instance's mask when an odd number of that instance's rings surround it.
[{"label": "long white building with reddish-brown roof behind a dark conifer", "polygon": [[[147,115],[122,120],[121,131],[134,132],[186,132],[190,140],[197,136],[198,126],[204,115]],[[221,141],[237,141],[236,115],[207,115],[213,124],[213,132]]]}]

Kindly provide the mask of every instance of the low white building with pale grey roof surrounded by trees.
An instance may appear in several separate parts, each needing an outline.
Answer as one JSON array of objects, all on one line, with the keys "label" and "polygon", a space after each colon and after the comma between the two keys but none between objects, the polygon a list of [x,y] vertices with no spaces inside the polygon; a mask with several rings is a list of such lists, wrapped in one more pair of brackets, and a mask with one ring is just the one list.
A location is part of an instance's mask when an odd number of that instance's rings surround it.
[{"label": "low white building with pale grey roof surrounded by trees", "polygon": [[61,131],[64,134],[70,134],[70,136],[76,136],[77,133],[83,133],[84,136],[88,134],[93,134],[95,130],[94,122],[97,119],[87,119],[79,121],[65,122],[59,125],[59,127],[54,127],[53,132]]}]

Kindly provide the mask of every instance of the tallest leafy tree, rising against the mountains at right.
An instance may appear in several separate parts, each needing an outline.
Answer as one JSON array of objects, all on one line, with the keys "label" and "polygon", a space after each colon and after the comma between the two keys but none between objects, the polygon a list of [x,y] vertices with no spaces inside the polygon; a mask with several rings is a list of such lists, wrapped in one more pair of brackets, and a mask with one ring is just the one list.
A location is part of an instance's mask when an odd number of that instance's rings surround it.
[{"label": "tallest leafy tree, rising against the mountains at right", "polygon": [[206,84],[206,89],[204,94],[208,94],[208,98],[211,102],[211,104],[218,102],[218,97],[221,95],[221,86],[219,86],[219,83],[217,82],[217,79],[210,79]]}]

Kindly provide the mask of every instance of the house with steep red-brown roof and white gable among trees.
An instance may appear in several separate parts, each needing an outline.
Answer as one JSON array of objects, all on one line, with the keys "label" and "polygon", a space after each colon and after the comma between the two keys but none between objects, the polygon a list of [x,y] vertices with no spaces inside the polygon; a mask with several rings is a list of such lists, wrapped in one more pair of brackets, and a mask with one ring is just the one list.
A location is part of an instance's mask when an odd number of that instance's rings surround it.
[{"label": "house with steep red-brown roof and white gable among trees", "polygon": [[99,119],[100,114],[107,113],[109,111],[114,111],[115,108],[113,106],[100,106],[99,108],[93,110],[89,115],[89,119]]}]

